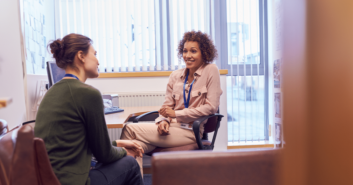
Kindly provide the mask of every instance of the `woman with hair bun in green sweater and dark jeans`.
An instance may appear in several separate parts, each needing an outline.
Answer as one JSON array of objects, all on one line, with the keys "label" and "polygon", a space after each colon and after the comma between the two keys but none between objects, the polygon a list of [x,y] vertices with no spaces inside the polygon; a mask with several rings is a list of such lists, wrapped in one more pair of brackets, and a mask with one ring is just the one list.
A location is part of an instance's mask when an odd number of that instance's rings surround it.
[{"label": "woman with hair bun in green sweater and dark jeans", "polygon": [[[92,40],[69,34],[48,44],[65,77],[45,94],[34,132],[44,140],[62,185],[143,184],[135,158],[144,152],[136,141],[110,142],[101,93],[85,84],[98,77]],[[92,154],[98,161],[90,170]]]}]

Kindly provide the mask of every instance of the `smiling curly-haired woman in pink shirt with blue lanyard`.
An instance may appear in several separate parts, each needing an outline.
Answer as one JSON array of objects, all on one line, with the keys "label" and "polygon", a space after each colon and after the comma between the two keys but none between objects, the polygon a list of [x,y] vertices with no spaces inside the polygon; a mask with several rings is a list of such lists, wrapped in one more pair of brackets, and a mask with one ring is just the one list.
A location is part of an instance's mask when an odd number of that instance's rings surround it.
[{"label": "smiling curly-haired woman in pink shirt with blue lanyard", "polygon": [[[217,65],[212,64],[217,50],[210,36],[201,31],[188,31],[177,50],[179,60],[184,60],[186,67],[170,74],[156,123],[129,123],[122,129],[120,139],[136,141],[146,153],[156,147],[196,143],[193,131],[181,127],[181,123],[192,124],[201,116],[215,114],[220,105],[220,73]],[[202,137],[203,124],[200,127]],[[142,157],[136,160],[142,172]]]}]

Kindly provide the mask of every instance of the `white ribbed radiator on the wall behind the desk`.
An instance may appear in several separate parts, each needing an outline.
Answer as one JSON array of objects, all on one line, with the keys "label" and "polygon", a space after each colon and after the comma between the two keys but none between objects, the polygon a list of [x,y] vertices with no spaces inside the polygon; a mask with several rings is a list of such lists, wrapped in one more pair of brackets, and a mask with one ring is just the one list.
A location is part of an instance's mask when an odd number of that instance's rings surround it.
[{"label": "white ribbed radiator on the wall behind the desk", "polygon": [[[166,92],[104,92],[103,94],[118,94],[119,107],[129,106],[162,106]],[[110,140],[120,139],[122,128],[108,128]]]}]

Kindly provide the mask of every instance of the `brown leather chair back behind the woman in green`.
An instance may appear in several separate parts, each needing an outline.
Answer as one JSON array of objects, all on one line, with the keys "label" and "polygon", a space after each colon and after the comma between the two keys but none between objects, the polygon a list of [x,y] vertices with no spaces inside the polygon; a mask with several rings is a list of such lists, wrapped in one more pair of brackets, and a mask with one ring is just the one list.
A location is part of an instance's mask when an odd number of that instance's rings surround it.
[{"label": "brown leather chair back behind the woman in green", "polygon": [[43,140],[34,137],[28,124],[0,139],[0,162],[1,185],[60,185]]}]

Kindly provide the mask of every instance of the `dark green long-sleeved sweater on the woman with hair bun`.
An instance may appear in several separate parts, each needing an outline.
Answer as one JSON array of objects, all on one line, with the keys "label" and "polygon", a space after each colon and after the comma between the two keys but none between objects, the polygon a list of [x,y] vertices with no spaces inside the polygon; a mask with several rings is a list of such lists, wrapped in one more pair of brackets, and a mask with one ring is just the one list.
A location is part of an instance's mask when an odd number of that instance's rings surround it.
[{"label": "dark green long-sleeved sweater on the woman with hair bun", "polygon": [[92,154],[101,163],[126,155],[123,148],[110,142],[101,93],[76,79],[63,79],[47,91],[37,112],[34,133],[44,140],[62,185],[90,184]]}]

